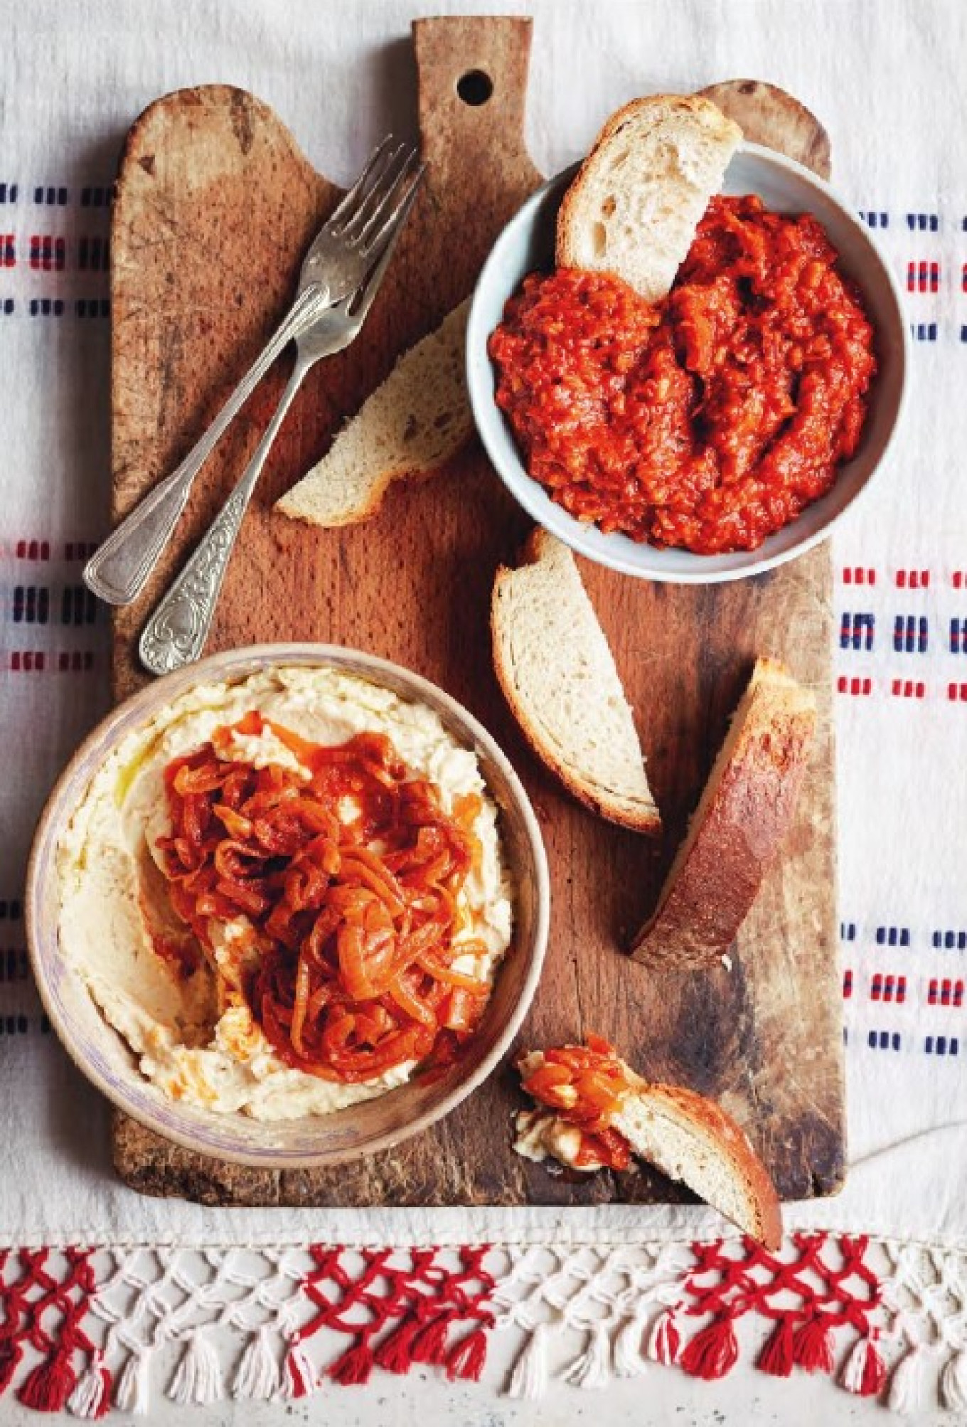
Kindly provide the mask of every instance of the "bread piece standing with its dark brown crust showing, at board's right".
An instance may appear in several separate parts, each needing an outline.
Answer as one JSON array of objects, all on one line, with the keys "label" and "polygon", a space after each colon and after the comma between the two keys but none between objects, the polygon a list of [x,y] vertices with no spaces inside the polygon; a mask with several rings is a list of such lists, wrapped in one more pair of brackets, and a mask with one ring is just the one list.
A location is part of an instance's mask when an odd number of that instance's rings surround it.
[{"label": "bread piece standing with its dark brown crust showing, at board's right", "polygon": [[632,956],[675,970],[725,956],[792,823],[814,729],[813,694],[757,659]]}]

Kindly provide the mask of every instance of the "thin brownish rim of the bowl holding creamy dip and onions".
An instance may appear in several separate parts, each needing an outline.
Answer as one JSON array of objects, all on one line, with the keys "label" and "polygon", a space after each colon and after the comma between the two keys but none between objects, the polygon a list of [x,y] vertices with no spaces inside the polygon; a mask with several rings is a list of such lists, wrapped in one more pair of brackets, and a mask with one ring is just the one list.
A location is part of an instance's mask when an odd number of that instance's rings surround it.
[{"label": "thin brownish rim of the bowl holding creamy dip and onions", "polygon": [[[349,1152],[335,1152],[335,1153],[314,1153],[314,1152],[284,1152],[278,1147],[265,1147],[265,1150],[247,1149],[234,1150],[231,1147],[224,1147],[218,1144],[217,1149],[208,1146],[208,1143],[198,1134],[193,1133],[190,1127],[180,1127],[171,1122],[167,1116],[173,1113],[171,1107],[165,1103],[164,1109],[167,1114],[153,1113],[150,1102],[138,1102],[133,1104],[130,1097],[126,1096],[123,1085],[118,1086],[108,1075],[101,1072],[98,1066],[93,1065],[90,1057],[84,1055],[83,1047],[76,1042],[73,1030],[67,1025],[67,1016],[61,1015],[61,1006],[58,999],[53,995],[48,985],[47,976],[47,958],[39,945],[39,926],[43,922],[41,903],[44,896],[44,889],[41,886],[41,869],[51,865],[51,858],[56,855],[57,845],[63,836],[66,823],[76,811],[77,801],[71,801],[67,805],[67,795],[71,789],[71,783],[78,775],[81,765],[86,762],[91,749],[98,743],[108,743],[113,735],[117,732],[118,725],[126,723],[130,718],[137,714],[148,715],[148,711],[155,708],[158,702],[164,702],[167,698],[177,698],[180,692],[190,688],[193,684],[211,676],[213,674],[225,674],[234,671],[238,676],[248,672],[255,672],[258,668],[265,668],[268,664],[282,665],[287,662],[307,664],[307,665],[347,665],[361,661],[368,671],[372,671],[374,681],[378,682],[379,675],[391,675],[395,679],[402,681],[409,689],[412,689],[414,699],[424,701],[429,699],[432,704],[442,704],[444,708],[451,714],[451,716],[462,725],[468,733],[472,736],[475,745],[484,751],[488,759],[491,759],[501,771],[506,781],[506,786],[516,801],[518,811],[521,813],[523,828],[526,832],[526,841],[529,843],[531,855],[533,858],[533,868],[536,875],[535,888],[535,919],[533,919],[533,945],[531,952],[531,965],[528,966],[523,983],[521,987],[521,995],[513,1005],[512,1013],[508,1017],[506,1025],[495,1036],[493,1045],[488,1053],[481,1059],[479,1065],[475,1066],[466,1079],[461,1080],[454,1090],[446,1095],[439,1104],[424,1110],[421,1114],[415,1116],[406,1124],[399,1126],[395,1130],[387,1130],[382,1134],[374,1136],[372,1140],[367,1142],[365,1146],[354,1147]],[[161,692],[161,701],[158,694]],[[90,778],[84,782],[87,788]],[[83,791],[81,791],[83,796]],[[145,688],[140,689],[137,694],[130,695],[123,699],[111,712],[103,718],[96,728],[84,738],[84,741],[74,751],[70,762],[60,773],[57,782],[54,783],[44,809],[37,822],[37,829],[34,832],[30,859],[27,862],[27,878],[24,890],[24,928],[27,938],[27,953],[30,956],[30,963],[34,973],[34,980],[37,983],[37,990],[40,993],[41,1005],[50,1019],[50,1023],[57,1035],[57,1039],[63,1045],[64,1050],[74,1062],[77,1069],[91,1082],[91,1085],[101,1092],[113,1104],[128,1114],[131,1119],[144,1124],[147,1129],[153,1130],[161,1139],[180,1144],[183,1149],[191,1150],[198,1154],[208,1154],[217,1160],[225,1160],[232,1164],[245,1164],[254,1169],[324,1169],[332,1167],[339,1163],[351,1163],[359,1160],[369,1154],[379,1153],[381,1150],[392,1149],[401,1144],[404,1140],[411,1139],[421,1130],[429,1129],[438,1120],[445,1119],[452,1110],[456,1109],[474,1090],[476,1090],[484,1080],[486,1080],[493,1070],[498,1067],[503,1059],[508,1046],[516,1036],[523,1017],[526,1016],[533,996],[541,980],[541,973],[543,969],[543,962],[548,950],[548,936],[551,926],[551,873],[548,869],[548,855],[543,846],[543,836],[541,833],[541,826],[538,823],[536,813],[531,805],[531,799],[523,788],[523,783],[518,778],[511,761],[506,753],[501,749],[496,739],[484,728],[484,725],[464,708],[451,694],[441,689],[438,684],[431,679],[425,679],[419,674],[414,674],[405,665],[394,664],[389,659],[382,659],[378,655],[368,654],[365,649],[351,649],[347,645],[332,645],[332,644],[311,644],[311,642],[288,642],[288,644],[254,644],[245,645],[238,649],[225,649],[218,654],[207,655],[204,659],[198,659],[195,664],[188,665],[183,669],[175,669],[173,674],[165,674],[160,679],[154,679]],[[60,948],[54,945],[48,958],[60,958]],[[63,962],[61,962],[63,965]],[[77,973],[73,973],[77,975]],[[90,993],[88,993],[90,995]],[[97,1015],[101,1012],[98,1007]],[[107,1023],[106,1023],[107,1025]],[[113,1029],[113,1027],[111,1027]],[[117,1032],[116,1032],[117,1035]],[[405,1090],[406,1086],[398,1087]],[[392,1093],[392,1092],[387,1092]],[[174,1106],[174,1114],[177,1116],[177,1106]],[[241,1116],[238,1116],[241,1117]],[[225,1122],[231,1122],[232,1116],[225,1116]],[[317,1116],[307,1119],[325,1120],[325,1116]]]}]

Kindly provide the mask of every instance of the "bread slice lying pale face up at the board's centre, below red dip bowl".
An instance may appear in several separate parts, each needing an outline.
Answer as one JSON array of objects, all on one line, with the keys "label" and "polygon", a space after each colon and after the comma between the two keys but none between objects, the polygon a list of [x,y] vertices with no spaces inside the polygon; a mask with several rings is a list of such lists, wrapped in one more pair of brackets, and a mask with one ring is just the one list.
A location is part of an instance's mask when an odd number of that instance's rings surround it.
[{"label": "bread slice lying pale face up at the board's centre, below red dip bowl", "polygon": [[602,818],[662,828],[630,706],[566,545],[533,531],[518,569],[493,582],[493,666],[539,758]]}]

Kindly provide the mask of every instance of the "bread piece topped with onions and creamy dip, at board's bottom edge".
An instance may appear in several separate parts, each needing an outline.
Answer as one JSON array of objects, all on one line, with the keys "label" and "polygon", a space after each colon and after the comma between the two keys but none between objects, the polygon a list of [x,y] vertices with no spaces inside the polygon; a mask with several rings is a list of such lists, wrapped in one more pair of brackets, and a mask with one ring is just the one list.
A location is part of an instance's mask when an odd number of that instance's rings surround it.
[{"label": "bread piece topped with onions and creamy dip, at board's bottom edge", "polygon": [[[590,1173],[603,1164],[595,1157],[602,1134],[613,1137],[616,1133],[632,1154],[687,1184],[752,1239],[777,1249],[782,1241],[779,1196],[736,1120],[695,1090],[643,1080],[606,1042],[588,1039],[600,1049],[563,1046],[546,1055],[531,1052],[518,1062],[523,1089],[539,1107],[516,1116],[515,1150],[526,1159],[552,1157],[569,1169]],[[566,1085],[561,1076],[568,1070],[569,1053],[575,1062],[569,1072],[573,1080]],[[615,1070],[625,1087],[616,1099],[603,1092],[600,1100],[606,1107],[596,1113],[586,1096],[593,1096],[602,1079],[613,1082]],[[546,1103],[546,1099],[568,1099],[566,1092],[573,1086],[592,1089],[578,1089],[566,1107]],[[600,1153],[608,1154],[606,1143]]]}]

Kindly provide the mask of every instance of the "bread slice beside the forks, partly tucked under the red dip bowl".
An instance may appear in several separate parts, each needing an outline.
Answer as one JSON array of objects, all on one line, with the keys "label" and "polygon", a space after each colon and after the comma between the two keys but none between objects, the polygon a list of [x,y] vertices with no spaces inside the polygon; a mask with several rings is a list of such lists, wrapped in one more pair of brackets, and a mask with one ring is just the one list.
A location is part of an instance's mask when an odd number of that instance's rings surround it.
[{"label": "bread slice beside the forks, partly tucked under the red dip bowl", "polygon": [[402,354],[322,459],[275,504],[311,525],[355,525],[401,477],[431,475],[474,432],[464,375],[469,298]]}]

